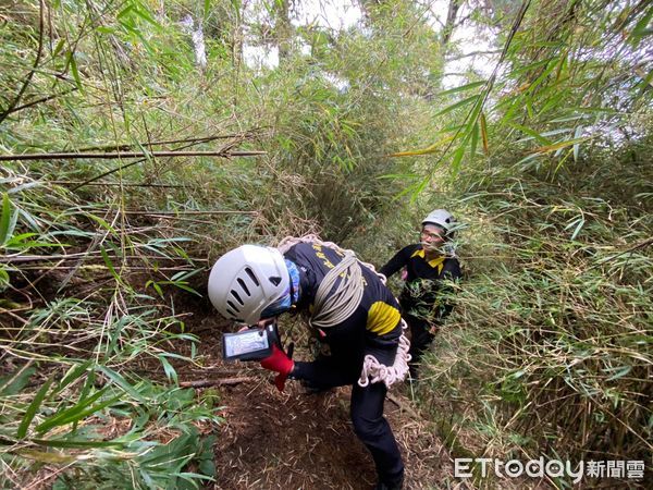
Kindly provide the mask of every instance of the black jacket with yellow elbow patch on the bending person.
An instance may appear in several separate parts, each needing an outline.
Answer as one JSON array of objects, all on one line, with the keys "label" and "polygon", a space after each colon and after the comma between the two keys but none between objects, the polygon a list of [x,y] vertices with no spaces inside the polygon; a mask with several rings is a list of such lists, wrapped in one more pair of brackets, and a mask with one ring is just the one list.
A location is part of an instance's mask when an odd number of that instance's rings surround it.
[{"label": "black jacket with yellow elbow patch on the bending person", "polygon": [[[317,243],[299,243],[285,254],[299,268],[299,311],[311,311],[318,286],[338,264],[343,255]],[[320,330],[318,336],[328,343],[334,360],[360,367],[367,354],[389,366],[394,362],[402,335],[399,305],[379,275],[361,264],[362,299],[358,308],[343,322]],[[337,287],[336,282],[334,289]]]}]

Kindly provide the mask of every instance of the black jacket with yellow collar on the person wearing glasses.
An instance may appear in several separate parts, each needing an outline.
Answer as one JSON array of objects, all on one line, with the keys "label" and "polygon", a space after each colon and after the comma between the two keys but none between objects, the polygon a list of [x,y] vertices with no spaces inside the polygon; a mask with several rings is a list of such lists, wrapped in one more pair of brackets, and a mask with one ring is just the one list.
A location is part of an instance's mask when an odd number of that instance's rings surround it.
[{"label": "black jacket with yellow collar on the person wearing glasses", "polygon": [[435,311],[433,305],[438,302],[438,293],[442,290],[443,280],[456,280],[463,277],[458,259],[442,256],[427,260],[422,246],[412,244],[397,252],[380,272],[390,278],[404,267],[408,274],[399,296],[403,313],[407,316],[428,316],[435,321],[448,315],[452,309],[449,305],[439,305]]}]

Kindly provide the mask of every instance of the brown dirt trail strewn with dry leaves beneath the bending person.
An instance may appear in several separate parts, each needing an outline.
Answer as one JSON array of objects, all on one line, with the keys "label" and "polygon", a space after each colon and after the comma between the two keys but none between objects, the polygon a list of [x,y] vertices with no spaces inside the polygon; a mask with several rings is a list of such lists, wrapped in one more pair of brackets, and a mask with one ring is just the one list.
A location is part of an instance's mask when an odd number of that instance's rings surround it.
[{"label": "brown dirt trail strewn with dry leaves beneath the bending person", "polygon": [[[217,481],[208,488],[373,488],[371,456],[349,421],[350,388],[307,394],[298,382],[288,381],[280,393],[271,384],[272,376],[257,363],[222,360],[220,338],[225,326],[215,324],[208,307],[195,309],[187,324],[201,339],[204,367],[181,371],[180,380],[249,378],[211,388],[219,393],[224,422],[217,428]],[[434,436],[432,425],[414,411],[406,391],[407,385],[393,389],[394,402],[385,402],[406,464],[404,488],[465,488],[453,478],[448,451]]]}]

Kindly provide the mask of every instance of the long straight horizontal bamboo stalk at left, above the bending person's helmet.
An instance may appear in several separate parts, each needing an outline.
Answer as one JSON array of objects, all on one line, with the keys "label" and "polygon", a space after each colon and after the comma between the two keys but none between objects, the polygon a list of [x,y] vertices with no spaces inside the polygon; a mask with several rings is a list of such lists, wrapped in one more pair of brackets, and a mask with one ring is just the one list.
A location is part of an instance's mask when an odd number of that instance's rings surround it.
[{"label": "long straight horizontal bamboo stalk at left, above the bending person's helmet", "polygon": [[24,155],[0,155],[0,161],[33,161],[33,160],[75,160],[78,158],[114,160],[119,158],[138,157],[256,157],[267,155],[267,151],[109,151],[104,154],[88,152],[53,152],[53,154],[24,154]]}]

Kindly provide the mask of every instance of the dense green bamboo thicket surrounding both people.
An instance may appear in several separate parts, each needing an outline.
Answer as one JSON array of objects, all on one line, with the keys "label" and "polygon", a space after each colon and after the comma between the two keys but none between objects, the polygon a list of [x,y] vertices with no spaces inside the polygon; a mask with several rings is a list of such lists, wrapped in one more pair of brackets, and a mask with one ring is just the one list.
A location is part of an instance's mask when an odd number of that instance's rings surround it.
[{"label": "dense green bamboo thicket surrounding both people", "polygon": [[651,8],[626,3],[480,19],[504,71],[449,90],[408,2],[297,28],[268,69],[239,50],[279,44],[280,2],[2,7],[0,155],[41,154],[0,175],[4,488],[210,479],[220,401],[177,370],[204,362],[180,304],[211,261],[320,232],[381,266],[433,207],[466,279],[417,401],[454,452],[650,464]]}]

